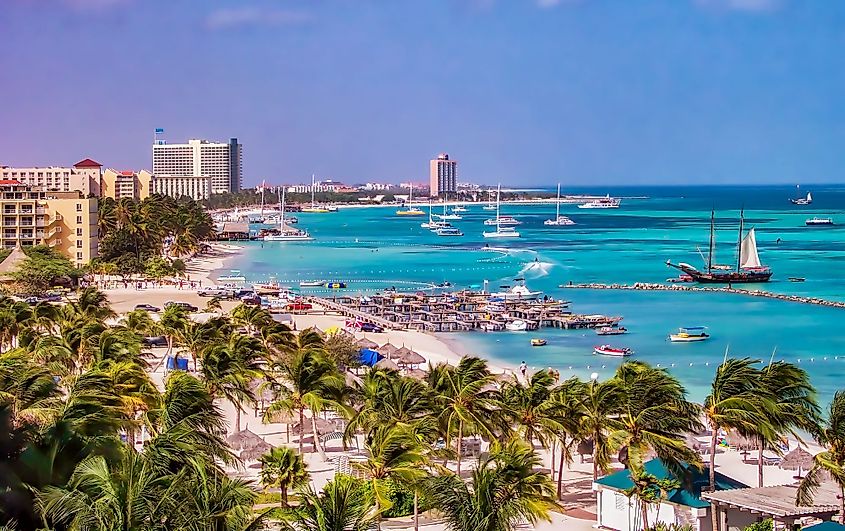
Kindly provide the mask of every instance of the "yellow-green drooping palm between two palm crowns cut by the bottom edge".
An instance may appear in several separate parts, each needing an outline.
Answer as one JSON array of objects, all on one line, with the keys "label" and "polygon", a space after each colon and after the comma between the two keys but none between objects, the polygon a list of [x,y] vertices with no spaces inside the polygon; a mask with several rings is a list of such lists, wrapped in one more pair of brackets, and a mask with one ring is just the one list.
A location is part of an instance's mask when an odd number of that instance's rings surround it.
[{"label": "yellow-green drooping palm between two palm crowns cut by the bottom edge", "polygon": [[[376,528],[381,529],[381,515],[393,506],[389,481],[416,489],[425,477],[420,465],[425,461],[416,434],[407,426],[381,426],[370,432],[367,443],[370,456],[356,468],[364,472],[375,498]],[[414,504],[416,522],[416,503]]]}]

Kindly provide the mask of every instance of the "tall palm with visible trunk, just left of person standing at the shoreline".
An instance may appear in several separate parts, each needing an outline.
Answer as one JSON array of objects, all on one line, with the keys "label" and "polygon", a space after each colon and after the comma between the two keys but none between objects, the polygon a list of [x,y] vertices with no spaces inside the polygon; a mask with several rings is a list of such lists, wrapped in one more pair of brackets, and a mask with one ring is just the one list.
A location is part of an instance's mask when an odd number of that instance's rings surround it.
[{"label": "tall palm with visible trunk, just left of person standing at the shoreline", "polygon": [[[461,443],[464,436],[494,436],[496,419],[493,376],[485,360],[465,356],[457,367],[438,364],[429,372],[427,380],[434,392],[438,424],[446,445],[455,443],[457,473],[460,475]],[[457,434],[454,441],[453,433]]]}]

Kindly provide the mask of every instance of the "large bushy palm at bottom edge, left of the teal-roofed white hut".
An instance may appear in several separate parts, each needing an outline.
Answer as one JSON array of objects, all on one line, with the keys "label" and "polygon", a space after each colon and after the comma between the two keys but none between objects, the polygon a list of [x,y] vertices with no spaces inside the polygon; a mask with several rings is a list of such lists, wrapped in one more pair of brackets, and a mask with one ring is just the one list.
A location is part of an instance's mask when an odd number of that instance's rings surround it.
[{"label": "large bushy palm at bottom edge, left of the teal-roofed white hut", "polygon": [[550,521],[559,507],[551,479],[534,471],[540,464],[533,449],[512,440],[478,463],[471,486],[447,474],[428,480],[426,493],[450,531],[511,531]]}]

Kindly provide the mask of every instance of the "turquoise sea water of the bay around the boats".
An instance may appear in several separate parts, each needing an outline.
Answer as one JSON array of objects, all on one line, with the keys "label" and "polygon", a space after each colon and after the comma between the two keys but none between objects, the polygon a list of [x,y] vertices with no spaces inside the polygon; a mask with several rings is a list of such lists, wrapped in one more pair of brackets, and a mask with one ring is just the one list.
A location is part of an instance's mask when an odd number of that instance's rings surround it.
[{"label": "turquoise sea water of the bay around the boats", "polygon": [[[316,238],[309,243],[249,242],[248,250],[230,267],[251,281],[276,278],[298,289],[301,280],[341,280],[347,293],[395,286],[416,290],[432,283],[455,287],[496,287],[524,276],[532,289],[572,302],[578,313],[624,316],[630,333],[601,338],[631,347],[635,357],[669,367],[702,398],[715,365],[731,355],[800,363],[812,375],[824,400],[845,388],[845,310],[730,294],[569,290],[573,282],[661,282],[677,276],[667,259],[701,266],[697,251],[706,252],[710,209],[717,218],[716,262],[736,261],[740,208],[746,227],[755,227],[761,261],[774,270],[761,288],[790,294],[845,300],[845,187],[804,186],[814,202],[797,207],[788,198],[795,187],[637,187],[565,190],[565,193],[610,192],[624,199],[615,210],[585,210],[562,205],[561,213],[576,225],[546,227],[554,205],[503,205],[503,215],[523,224],[518,240],[485,240],[484,219],[494,217],[480,205],[469,206],[453,224],[459,238],[433,235],[420,228],[427,218],[399,217],[395,207],[355,208],[330,214],[297,214],[299,227]],[[633,199],[637,197],[637,199]],[[424,208],[425,209],[425,208]],[[437,209],[435,209],[437,212]],[[813,216],[832,217],[837,226],[806,227]],[[487,228],[489,230],[489,227]],[[777,243],[780,238],[781,242]],[[508,253],[483,251],[485,243],[508,247]],[[790,276],[806,277],[793,283]],[[326,294],[324,291],[322,294]],[[666,336],[679,326],[704,325],[711,340],[670,344]],[[548,345],[529,346],[531,337]],[[563,374],[609,375],[619,361],[594,356],[599,344],[593,331],[447,334],[460,351],[483,355],[515,367],[555,367]],[[571,367],[571,369],[570,369]]]}]

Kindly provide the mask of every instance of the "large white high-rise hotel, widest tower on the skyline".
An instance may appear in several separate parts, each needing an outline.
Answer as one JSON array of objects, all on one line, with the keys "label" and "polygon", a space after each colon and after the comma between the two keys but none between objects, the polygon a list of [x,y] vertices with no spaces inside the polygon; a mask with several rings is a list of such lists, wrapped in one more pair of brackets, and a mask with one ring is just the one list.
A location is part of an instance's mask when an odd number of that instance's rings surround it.
[{"label": "large white high-rise hotel, widest tower on the skyline", "polygon": [[171,177],[207,176],[211,193],[238,192],[243,183],[243,146],[237,138],[228,143],[188,140],[187,144],[153,144],[153,174]]}]

